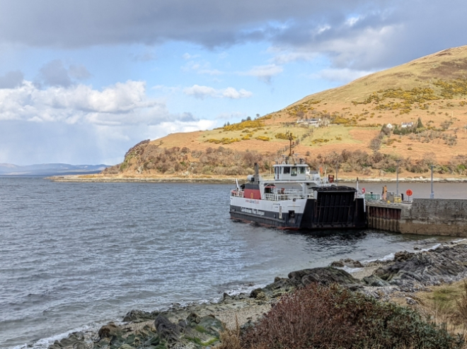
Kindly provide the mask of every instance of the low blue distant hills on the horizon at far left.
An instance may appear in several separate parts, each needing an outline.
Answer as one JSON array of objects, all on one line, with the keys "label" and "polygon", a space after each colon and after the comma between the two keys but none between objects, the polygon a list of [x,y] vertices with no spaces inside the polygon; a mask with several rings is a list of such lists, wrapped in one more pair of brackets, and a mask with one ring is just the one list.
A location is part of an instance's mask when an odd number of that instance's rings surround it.
[{"label": "low blue distant hills on the horizon at far left", "polygon": [[53,175],[86,175],[98,173],[108,165],[69,165],[69,164],[38,164],[18,166],[0,164],[0,176],[53,176]]}]

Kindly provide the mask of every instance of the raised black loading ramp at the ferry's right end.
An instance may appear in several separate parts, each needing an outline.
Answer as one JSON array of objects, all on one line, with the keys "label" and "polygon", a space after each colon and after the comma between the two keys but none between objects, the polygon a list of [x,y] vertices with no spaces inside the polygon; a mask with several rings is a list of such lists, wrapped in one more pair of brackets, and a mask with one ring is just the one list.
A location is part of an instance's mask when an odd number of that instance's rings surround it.
[{"label": "raised black loading ramp at the ferry's right end", "polygon": [[309,200],[302,220],[306,228],[365,227],[364,200],[357,199],[352,187],[313,187],[315,200]]}]

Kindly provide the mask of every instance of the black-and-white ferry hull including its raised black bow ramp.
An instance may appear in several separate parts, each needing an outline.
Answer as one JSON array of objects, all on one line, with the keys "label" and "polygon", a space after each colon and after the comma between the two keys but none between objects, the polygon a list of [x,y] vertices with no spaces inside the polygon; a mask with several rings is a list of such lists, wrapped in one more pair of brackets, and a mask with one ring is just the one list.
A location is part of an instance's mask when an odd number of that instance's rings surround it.
[{"label": "black-and-white ferry hull including its raised black bow ramp", "polygon": [[316,199],[271,201],[231,196],[231,218],[291,230],[366,227],[364,199],[354,191],[325,190]]}]

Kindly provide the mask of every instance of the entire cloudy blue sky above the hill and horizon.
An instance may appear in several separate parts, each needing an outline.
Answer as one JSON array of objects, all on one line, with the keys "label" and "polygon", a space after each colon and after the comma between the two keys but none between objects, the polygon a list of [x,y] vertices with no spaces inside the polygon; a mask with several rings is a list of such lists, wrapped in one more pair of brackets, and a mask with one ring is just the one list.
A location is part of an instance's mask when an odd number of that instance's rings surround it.
[{"label": "entire cloudy blue sky above the hill and horizon", "polygon": [[0,163],[114,165],[467,44],[460,0],[0,0]]}]

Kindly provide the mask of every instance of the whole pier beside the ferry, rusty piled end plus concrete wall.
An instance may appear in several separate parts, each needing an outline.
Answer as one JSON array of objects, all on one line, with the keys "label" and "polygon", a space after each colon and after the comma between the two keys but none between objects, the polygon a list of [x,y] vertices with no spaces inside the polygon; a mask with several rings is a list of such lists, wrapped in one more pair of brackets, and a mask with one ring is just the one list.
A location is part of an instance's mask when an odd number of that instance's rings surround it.
[{"label": "whole pier beside the ferry, rusty piled end plus concrete wall", "polygon": [[403,234],[467,237],[467,200],[367,201],[368,227]]}]

